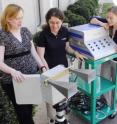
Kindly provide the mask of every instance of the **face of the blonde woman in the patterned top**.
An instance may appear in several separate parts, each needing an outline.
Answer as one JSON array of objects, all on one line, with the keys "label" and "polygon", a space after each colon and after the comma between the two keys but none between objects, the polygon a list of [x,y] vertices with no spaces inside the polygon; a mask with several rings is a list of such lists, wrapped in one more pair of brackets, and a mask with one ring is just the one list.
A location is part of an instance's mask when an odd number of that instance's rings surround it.
[{"label": "face of the blonde woman in the patterned top", "polygon": [[19,29],[22,26],[22,20],[23,20],[23,11],[20,10],[16,18],[10,18],[8,22],[12,29]]}]

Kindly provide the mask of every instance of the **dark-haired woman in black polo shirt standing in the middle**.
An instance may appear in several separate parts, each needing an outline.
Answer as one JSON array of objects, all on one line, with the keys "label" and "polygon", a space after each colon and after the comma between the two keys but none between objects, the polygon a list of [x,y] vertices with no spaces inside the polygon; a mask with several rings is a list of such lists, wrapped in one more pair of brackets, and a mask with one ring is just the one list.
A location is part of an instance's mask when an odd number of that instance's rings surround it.
[{"label": "dark-haired woman in black polo shirt standing in the middle", "polygon": [[[58,8],[51,8],[46,14],[46,26],[37,38],[37,53],[47,69],[59,64],[68,66],[66,52],[74,54],[76,58],[83,56],[69,46],[68,29],[63,27],[64,14]],[[47,113],[54,118],[52,106],[47,104]]]}]

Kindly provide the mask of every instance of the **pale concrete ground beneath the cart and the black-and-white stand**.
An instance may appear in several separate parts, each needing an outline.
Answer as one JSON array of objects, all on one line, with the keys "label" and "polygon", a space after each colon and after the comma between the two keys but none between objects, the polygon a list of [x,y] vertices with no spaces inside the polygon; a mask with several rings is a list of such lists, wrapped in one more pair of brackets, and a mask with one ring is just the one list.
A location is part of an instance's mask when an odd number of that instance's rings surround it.
[{"label": "pale concrete ground beneath the cart and the black-and-white stand", "polygon": [[[35,124],[48,124],[47,122],[47,112],[45,104],[39,105],[36,108],[37,112],[34,116]],[[68,115],[70,124],[88,124],[87,121],[81,119],[81,117],[76,116],[72,112]],[[117,116],[114,119],[108,119],[101,121],[99,124],[117,124]]]}]

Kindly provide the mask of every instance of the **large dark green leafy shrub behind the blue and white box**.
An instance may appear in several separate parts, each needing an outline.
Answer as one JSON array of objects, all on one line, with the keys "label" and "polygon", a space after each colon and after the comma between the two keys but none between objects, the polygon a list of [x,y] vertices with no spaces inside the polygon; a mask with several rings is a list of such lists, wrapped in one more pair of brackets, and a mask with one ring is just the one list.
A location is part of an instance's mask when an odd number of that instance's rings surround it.
[{"label": "large dark green leafy shrub behind the blue and white box", "polygon": [[70,26],[88,23],[90,17],[96,15],[96,8],[98,8],[97,0],[77,0],[64,12],[65,22]]}]

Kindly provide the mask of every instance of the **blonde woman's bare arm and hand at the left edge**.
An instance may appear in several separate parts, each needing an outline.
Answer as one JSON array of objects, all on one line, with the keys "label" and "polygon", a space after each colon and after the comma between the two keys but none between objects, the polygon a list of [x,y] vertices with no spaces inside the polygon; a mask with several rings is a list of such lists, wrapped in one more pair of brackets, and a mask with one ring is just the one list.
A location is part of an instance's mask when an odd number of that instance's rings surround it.
[{"label": "blonde woman's bare arm and hand at the left edge", "polygon": [[22,82],[24,80],[23,74],[20,71],[17,71],[4,63],[4,52],[5,47],[0,46],[0,70],[7,74],[11,74],[14,80]]}]

